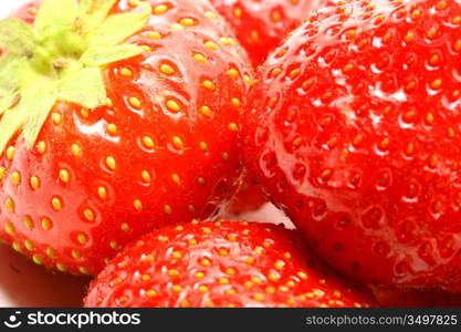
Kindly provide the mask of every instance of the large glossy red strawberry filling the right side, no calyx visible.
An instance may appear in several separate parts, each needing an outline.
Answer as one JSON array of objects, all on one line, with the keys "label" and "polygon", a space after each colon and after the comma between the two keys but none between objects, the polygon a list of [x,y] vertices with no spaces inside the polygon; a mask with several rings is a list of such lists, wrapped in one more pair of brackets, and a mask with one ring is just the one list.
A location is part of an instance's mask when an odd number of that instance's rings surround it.
[{"label": "large glossy red strawberry filling the right side, no calyx visible", "polygon": [[461,291],[461,6],[339,3],[262,68],[247,166],[343,273]]}]

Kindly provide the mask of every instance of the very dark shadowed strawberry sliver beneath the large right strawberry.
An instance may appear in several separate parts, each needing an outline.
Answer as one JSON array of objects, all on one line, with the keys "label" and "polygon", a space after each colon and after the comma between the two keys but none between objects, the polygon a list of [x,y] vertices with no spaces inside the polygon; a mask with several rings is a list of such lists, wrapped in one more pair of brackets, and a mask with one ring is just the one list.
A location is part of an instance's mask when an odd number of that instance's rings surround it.
[{"label": "very dark shadowed strawberry sliver beneath the large right strawberry", "polygon": [[377,301],[384,307],[442,308],[461,305],[461,293],[440,289],[398,289],[386,286],[373,288]]}]

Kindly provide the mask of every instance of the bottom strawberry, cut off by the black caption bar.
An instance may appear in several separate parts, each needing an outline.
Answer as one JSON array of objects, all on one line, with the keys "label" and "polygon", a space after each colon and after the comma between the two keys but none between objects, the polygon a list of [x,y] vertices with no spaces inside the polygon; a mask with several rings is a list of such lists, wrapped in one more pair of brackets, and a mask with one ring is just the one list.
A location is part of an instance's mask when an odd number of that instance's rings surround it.
[{"label": "bottom strawberry, cut off by the black caption bar", "polygon": [[86,307],[367,307],[295,232],[191,222],[129,245],[96,278]]}]

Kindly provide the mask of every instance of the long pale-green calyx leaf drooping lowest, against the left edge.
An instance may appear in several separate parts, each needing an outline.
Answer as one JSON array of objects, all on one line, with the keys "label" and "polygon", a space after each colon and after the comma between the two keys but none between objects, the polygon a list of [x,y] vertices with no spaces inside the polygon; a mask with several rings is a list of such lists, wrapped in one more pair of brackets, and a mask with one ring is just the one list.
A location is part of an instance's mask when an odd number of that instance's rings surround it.
[{"label": "long pale-green calyx leaf drooping lowest, against the left edge", "polygon": [[38,75],[31,75],[30,79],[30,84],[21,90],[19,103],[9,108],[0,121],[0,153],[21,128],[22,137],[29,146],[33,146],[56,102],[54,85],[49,80]]}]

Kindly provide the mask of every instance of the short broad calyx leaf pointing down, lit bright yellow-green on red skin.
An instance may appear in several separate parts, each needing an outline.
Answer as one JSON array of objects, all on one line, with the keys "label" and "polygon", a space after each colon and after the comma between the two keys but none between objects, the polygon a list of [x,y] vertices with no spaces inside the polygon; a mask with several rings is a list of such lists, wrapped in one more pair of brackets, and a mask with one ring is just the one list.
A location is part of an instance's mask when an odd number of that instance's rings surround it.
[{"label": "short broad calyx leaf pointing down, lit bright yellow-green on red skin", "polygon": [[86,108],[105,105],[107,95],[101,70],[85,68],[70,73],[60,82],[57,97]]}]

